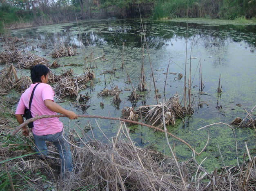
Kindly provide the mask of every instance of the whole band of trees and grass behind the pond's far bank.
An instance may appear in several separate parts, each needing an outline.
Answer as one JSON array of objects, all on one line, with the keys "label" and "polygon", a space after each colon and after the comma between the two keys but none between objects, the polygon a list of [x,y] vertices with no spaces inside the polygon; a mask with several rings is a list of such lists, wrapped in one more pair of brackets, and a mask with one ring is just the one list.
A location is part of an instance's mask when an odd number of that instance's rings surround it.
[{"label": "whole band of trees and grass behind the pond's far bank", "polygon": [[[69,22],[87,18],[256,17],[256,0],[2,0],[0,26]],[[18,26],[14,28],[19,28]]]}]

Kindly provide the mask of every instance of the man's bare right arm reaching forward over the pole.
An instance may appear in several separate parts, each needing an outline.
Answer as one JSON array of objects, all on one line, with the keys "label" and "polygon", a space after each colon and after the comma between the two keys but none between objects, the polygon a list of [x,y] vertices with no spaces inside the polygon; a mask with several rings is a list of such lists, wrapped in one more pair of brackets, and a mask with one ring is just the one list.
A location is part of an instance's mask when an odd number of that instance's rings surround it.
[{"label": "man's bare right arm reaching forward over the pole", "polygon": [[78,116],[73,111],[68,111],[67,109],[62,108],[60,105],[53,102],[53,100],[44,100],[45,106],[50,109],[51,111],[54,111],[56,113],[61,113],[63,115],[67,115],[69,119],[78,119]]}]

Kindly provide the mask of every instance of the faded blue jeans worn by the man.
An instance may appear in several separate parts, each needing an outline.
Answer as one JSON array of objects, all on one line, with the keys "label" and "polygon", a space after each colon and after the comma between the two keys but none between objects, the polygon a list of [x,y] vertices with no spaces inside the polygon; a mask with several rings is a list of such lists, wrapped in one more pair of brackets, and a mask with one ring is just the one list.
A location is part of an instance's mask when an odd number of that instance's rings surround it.
[{"label": "faded blue jeans worn by the man", "polygon": [[[60,154],[62,174],[64,171],[72,171],[72,155],[70,152],[69,143],[63,139],[64,136],[63,130],[53,135],[38,136],[33,134],[37,147],[36,152],[39,152],[40,150],[43,155],[47,156],[47,146],[45,141],[50,141],[56,146]],[[67,138],[65,137],[65,139]],[[41,153],[39,152],[38,155],[41,155]]]}]

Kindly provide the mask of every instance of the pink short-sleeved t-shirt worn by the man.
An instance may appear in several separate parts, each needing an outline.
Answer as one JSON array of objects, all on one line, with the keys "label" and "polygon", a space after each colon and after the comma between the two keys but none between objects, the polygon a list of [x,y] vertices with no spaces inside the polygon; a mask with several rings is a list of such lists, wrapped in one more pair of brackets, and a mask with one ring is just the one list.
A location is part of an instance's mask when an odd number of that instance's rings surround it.
[{"label": "pink short-sleeved t-shirt worn by the man", "polygon": [[[22,93],[15,112],[16,114],[24,114],[24,109],[29,108],[29,99],[35,85],[36,84],[31,84],[31,86],[24,91],[24,93]],[[56,115],[57,113],[48,109],[44,103],[44,100],[53,101],[53,96],[54,91],[51,86],[45,83],[40,83],[34,91],[33,100],[31,103],[32,116]],[[38,136],[52,135],[62,131],[63,129],[63,124],[59,121],[58,117],[38,119],[33,122],[33,124],[34,127],[32,128],[32,132]]]}]

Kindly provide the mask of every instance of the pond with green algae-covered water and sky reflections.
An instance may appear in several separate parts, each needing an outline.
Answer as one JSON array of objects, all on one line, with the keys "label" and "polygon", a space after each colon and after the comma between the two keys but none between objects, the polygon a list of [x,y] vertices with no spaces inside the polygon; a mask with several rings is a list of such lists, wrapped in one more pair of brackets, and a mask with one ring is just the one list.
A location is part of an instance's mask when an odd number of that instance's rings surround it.
[{"label": "pond with green algae-covered water and sky reflections", "polygon": [[[76,75],[82,74],[85,65],[85,56],[94,58],[102,56],[104,52],[106,61],[96,59],[89,65],[95,67],[96,78],[94,86],[80,91],[80,94],[88,93],[90,99],[88,109],[79,109],[73,105],[75,100],[65,99],[60,103],[66,109],[73,110],[80,115],[102,115],[120,117],[123,108],[139,107],[145,104],[154,105],[154,84],[151,76],[152,65],[154,80],[163,102],[163,98],[169,99],[176,93],[183,98],[185,63],[187,63],[187,79],[189,78],[189,66],[191,65],[191,94],[193,98],[194,114],[183,120],[177,120],[175,126],[169,126],[168,131],[189,143],[196,151],[200,152],[207,143],[208,130],[210,134],[207,148],[196,160],[200,163],[205,157],[203,166],[211,171],[214,167],[236,165],[236,142],[234,133],[228,126],[217,124],[197,130],[203,126],[223,122],[229,124],[236,117],[245,117],[246,112],[255,106],[256,98],[256,30],[255,25],[242,26],[232,24],[218,24],[196,21],[181,22],[179,20],[150,21],[143,20],[147,45],[142,43],[143,30],[140,20],[87,20],[68,24],[58,24],[37,28],[28,28],[12,31],[12,35],[24,37],[27,43],[22,48],[39,56],[43,56],[52,63],[58,61],[60,65],[77,64],[78,66],[66,66],[51,69],[56,74],[62,74],[63,70],[73,69]],[[60,43],[73,47],[78,52],[76,56],[52,59],[49,53],[54,46]],[[42,49],[42,45],[46,46]],[[147,92],[142,100],[131,103],[128,96],[132,89],[138,87],[141,64],[146,76]],[[186,48],[187,47],[187,48]],[[187,50],[187,51],[186,51]],[[186,57],[187,52],[187,57]],[[193,59],[189,59],[193,57]],[[120,69],[123,63],[124,69]],[[203,94],[199,91],[200,72],[202,67]],[[169,65],[167,80],[166,72]],[[105,71],[113,71],[114,74],[103,74]],[[20,71],[23,75],[29,75],[29,71]],[[129,78],[131,84],[127,83]],[[178,74],[183,78],[177,80]],[[221,77],[220,77],[221,76]],[[222,94],[218,97],[216,89],[220,78]],[[88,84],[89,85],[89,84]],[[98,93],[104,88],[118,86],[121,103],[119,106],[111,104],[112,97],[98,97]],[[165,94],[164,94],[165,89]],[[9,95],[11,96],[11,95]],[[100,102],[104,107],[100,107]],[[183,103],[181,103],[183,105]],[[241,106],[239,105],[241,104]],[[220,107],[221,106],[221,107]],[[67,119],[61,119],[68,126]],[[106,141],[100,133],[94,119],[80,118],[70,122],[71,128],[84,126],[89,120],[93,127],[93,135]],[[114,137],[118,126],[113,121],[97,119],[99,126],[107,137]],[[142,126],[130,126],[130,134],[136,145],[152,147],[165,154],[170,154],[165,135],[162,132],[153,132],[152,129]],[[255,154],[255,131],[250,128],[234,128],[238,143],[238,158],[240,162],[245,150],[245,141],[252,154]],[[87,135],[91,136],[89,130]],[[178,160],[186,160],[192,157],[192,152],[186,145],[169,137],[174,147]],[[223,161],[222,161],[223,158]]]}]

